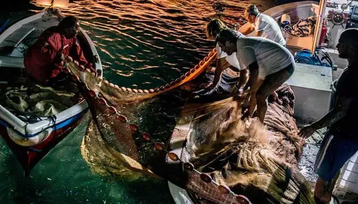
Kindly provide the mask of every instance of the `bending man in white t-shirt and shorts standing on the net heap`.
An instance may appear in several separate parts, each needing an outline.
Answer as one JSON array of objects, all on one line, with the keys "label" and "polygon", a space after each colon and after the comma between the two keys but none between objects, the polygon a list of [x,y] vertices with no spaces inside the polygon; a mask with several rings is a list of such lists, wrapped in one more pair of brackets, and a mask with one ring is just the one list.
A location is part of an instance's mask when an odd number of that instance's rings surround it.
[{"label": "bending man in white t-shirt and shorts standing on the net heap", "polygon": [[[241,68],[249,69],[250,106],[252,117],[257,104],[257,116],[263,123],[267,110],[267,97],[286,82],[295,70],[295,60],[288,49],[262,37],[245,37],[231,29],[223,29],[215,40],[228,55],[237,52]],[[242,89],[245,81],[240,77],[233,91]]]}]

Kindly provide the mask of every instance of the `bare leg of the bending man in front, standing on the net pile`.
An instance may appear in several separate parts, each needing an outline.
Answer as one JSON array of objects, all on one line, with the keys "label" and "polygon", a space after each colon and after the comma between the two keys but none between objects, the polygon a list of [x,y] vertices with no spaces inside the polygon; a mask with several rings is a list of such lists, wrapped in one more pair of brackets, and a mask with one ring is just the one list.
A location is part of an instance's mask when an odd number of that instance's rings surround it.
[{"label": "bare leg of the bending man in front, standing on the net pile", "polygon": [[268,75],[256,93],[257,117],[262,123],[268,107],[267,97],[289,79],[290,74],[287,69],[288,67]]}]

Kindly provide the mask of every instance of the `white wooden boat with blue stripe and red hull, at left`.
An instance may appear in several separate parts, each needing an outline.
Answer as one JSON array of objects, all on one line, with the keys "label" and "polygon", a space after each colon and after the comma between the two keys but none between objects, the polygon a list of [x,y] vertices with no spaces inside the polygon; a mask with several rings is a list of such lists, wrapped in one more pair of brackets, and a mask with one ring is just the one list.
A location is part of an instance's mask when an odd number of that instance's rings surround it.
[{"label": "white wooden boat with blue stripe and red hull, at left", "polygon": [[[24,52],[36,42],[42,31],[57,25],[63,17],[58,9],[44,9],[16,22],[0,35],[0,90],[6,90],[15,80],[26,79]],[[101,61],[91,39],[82,29],[77,39],[86,59],[102,75]],[[87,103],[82,99],[52,117],[37,117],[37,121],[29,122],[24,119],[29,115],[23,117],[2,102],[0,135],[12,149],[26,174],[88,113]]]}]

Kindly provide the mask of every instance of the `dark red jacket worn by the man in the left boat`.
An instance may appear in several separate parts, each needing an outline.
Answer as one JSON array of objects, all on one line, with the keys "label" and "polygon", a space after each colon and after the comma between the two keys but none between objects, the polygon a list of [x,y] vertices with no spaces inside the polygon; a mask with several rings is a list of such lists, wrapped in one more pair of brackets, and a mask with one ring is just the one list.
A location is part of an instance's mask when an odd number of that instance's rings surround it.
[{"label": "dark red jacket worn by the man in the left boat", "polygon": [[77,38],[67,39],[55,29],[56,27],[52,27],[42,32],[24,56],[25,68],[33,78],[42,83],[47,83],[61,72],[63,67],[54,62],[58,52],[71,56],[85,68],[92,67],[92,63],[86,61]]}]

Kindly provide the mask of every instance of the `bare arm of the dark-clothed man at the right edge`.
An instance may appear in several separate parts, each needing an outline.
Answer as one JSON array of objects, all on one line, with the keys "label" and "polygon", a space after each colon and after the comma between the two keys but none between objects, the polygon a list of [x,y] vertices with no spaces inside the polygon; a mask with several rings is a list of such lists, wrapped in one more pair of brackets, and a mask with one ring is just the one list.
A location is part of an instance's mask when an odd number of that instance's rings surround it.
[{"label": "bare arm of the dark-clothed man at the right edge", "polygon": [[318,121],[303,127],[299,135],[303,138],[307,138],[311,136],[316,130],[332,125],[333,123],[342,119],[347,114],[352,101],[353,98],[338,95],[333,109]]}]

